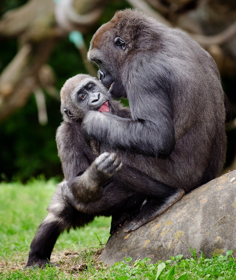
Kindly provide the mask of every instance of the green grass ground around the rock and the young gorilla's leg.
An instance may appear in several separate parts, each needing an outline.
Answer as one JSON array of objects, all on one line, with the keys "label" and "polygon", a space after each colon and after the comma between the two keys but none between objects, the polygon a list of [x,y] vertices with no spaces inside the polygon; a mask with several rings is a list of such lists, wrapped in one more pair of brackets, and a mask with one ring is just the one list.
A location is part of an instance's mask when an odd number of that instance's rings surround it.
[{"label": "green grass ground around the rock and the young gorilla's leg", "polygon": [[98,261],[99,250],[94,249],[99,248],[99,240],[104,243],[109,237],[110,218],[102,217],[83,229],[60,236],[53,251],[53,258],[60,267],[23,271],[31,240],[47,215],[46,208],[55,186],[54,180],[43,179],[31,180],[26,185],[0,184],[0,280],[236,280],[232,251],[213,258],[202,254],[197,259],[192,250],[191,259],[179,255],[152,263],[149,259],[127,258],[114,266],[103,266]]}]

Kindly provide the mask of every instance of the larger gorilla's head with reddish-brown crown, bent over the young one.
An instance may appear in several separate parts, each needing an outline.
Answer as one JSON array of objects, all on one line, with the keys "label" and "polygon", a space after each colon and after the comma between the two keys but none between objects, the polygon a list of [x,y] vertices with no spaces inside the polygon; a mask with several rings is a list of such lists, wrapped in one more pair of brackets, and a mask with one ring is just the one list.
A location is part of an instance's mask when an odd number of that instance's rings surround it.
[{"label": "larger gorilla's head with reddish-brown crown, bent over the young one", "polygon": [[[118,11],[106,24],[94,34],[88,59],[99,66],[98,77],[105,87],[111,85],[110,93],[115,97],[127,97],[127,88],[131,87],[133,75],[138,73],[145,77],[145,63],[153,65],[155,58],[150,52],[162,52],[162,48],[170,47],[170,40],[165,42],[165,26],[155,22],[158,29],[152,30],[153,20],[138,10]],[[125,71],[129,67],[129,58],[142,52],[143,57],[137,59],[133,71]],[[152,60],[154,58],[154,60]],[[129,68],[130,70],[130,68]],[[155,71],[155,68],[153,69]],[[124,73],[125,71],[125,73]],[[136,73],[135,73],[136,72]],[[131,74],[131,75],[130,75]],[[128,75],[128,76],[125,76]],[[130,83],[127,83],[127,80]],[[148,80],[146,81],[149,82]]]}]

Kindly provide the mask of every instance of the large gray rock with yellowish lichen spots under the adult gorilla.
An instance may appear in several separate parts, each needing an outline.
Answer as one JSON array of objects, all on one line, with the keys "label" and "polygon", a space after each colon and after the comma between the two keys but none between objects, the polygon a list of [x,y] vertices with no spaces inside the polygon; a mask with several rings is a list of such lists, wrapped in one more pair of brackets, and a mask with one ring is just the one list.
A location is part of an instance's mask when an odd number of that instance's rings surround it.
[{"label": "large gray rock with yellowish lichen spots under the adult gorilla", "polygon": [[119,228],[109,238],[100,261],[114,264],[131,256],[152,262],[182,254],[189,246],[205,255],[236,253],[236,170],[185,195],[166,213],[141,228],[125,233]]}]

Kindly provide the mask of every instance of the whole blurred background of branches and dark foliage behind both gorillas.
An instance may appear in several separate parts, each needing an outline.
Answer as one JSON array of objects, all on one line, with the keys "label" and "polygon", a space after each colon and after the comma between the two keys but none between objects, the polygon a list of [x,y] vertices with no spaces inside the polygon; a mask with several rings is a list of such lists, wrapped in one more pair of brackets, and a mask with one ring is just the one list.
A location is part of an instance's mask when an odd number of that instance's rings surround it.
[{"label": "whole blurred background of branches and dark foliage behind both gorillas", "polygon": [[214,57],[233,111],[224,172],[236,169],[236,1],[1,0],[0,181],[62,179],[60,88],[78,73],[96,76],[86,61],[91,37],[128,7],[185,30]]}]

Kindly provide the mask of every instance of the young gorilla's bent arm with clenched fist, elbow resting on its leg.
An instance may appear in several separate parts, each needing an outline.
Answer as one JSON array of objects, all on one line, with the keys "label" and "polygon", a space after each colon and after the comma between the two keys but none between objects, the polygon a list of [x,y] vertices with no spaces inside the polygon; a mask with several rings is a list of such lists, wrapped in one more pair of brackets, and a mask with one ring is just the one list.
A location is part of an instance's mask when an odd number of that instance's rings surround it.
[{"label": "young gorilla's bent arm with clenched fist, elbow resting on its leg", "polygon": [[57,130],[56,141],[67,181],[64,184],[68,184],[74,197],[80,202],[99,200],[102,185],[122,169],[120,159],[116,154],[107,152],[94,159],[78,123],[63,122]]}]

